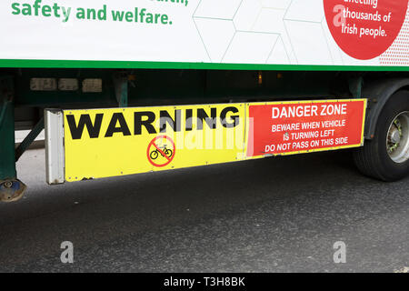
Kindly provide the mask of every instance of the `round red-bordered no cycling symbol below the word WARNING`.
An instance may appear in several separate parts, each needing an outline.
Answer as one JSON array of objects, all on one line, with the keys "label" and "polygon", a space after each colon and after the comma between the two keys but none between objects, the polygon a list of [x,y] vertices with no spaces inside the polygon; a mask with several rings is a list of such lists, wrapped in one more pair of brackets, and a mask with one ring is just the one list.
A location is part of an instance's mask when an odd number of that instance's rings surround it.
[{"label": "round red-bordered no cycling symbol below the word WARNING", "polygon": [[175,143],[169,136],[156,136],[147,148],[147,158],[153,166],[168,166],[175,157]]}]

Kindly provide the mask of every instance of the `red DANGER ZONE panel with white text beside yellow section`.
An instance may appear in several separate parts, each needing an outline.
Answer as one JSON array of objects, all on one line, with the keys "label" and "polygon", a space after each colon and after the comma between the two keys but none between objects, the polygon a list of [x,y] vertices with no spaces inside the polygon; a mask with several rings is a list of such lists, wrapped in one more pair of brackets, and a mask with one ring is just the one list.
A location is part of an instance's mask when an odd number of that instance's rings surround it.
[{"label": "red DANGER ZONE panel with white text beside yellow section", "polygon": [[365,99],[249,105],[247,156],[361,146],[365,108]]}]

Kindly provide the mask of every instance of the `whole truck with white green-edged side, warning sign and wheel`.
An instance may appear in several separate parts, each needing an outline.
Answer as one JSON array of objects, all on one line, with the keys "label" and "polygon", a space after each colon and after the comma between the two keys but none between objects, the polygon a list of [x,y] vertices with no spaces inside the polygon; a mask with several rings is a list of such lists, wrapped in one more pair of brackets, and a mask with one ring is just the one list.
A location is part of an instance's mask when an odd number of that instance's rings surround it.
[{"label": "whole truck with white green-edged side, warning sign and wheel", "polygon": [[49,185],[344,148],[409,174],[408,0],[2,0],[0,25],[0,201],[43,130]]}]

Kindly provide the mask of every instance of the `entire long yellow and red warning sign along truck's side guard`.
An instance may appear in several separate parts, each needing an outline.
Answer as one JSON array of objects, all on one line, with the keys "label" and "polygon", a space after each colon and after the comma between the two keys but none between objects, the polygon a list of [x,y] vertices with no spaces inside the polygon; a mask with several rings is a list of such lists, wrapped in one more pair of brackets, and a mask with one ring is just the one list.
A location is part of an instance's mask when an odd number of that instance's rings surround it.
[{"label": "entire long yellow and red warning sign along truck's side guard", "polygon": [[366,99],[65,110],[68,182],[363,146]]}]

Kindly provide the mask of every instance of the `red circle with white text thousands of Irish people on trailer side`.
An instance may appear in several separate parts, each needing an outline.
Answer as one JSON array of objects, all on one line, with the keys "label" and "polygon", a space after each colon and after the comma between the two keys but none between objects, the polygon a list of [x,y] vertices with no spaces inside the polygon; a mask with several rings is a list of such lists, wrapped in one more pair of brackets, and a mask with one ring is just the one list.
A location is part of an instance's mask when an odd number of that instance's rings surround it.
[{"label": "red circle with white text thousands of Irish people on trailer side", "polygon": [[326,22],[337,45],[359,60],[382,55],[399,34],[408,0],[324,0]]}]

